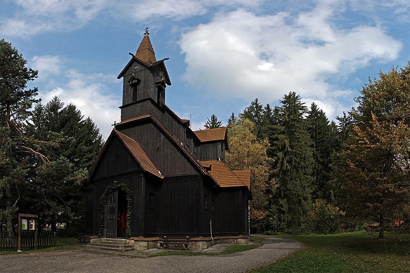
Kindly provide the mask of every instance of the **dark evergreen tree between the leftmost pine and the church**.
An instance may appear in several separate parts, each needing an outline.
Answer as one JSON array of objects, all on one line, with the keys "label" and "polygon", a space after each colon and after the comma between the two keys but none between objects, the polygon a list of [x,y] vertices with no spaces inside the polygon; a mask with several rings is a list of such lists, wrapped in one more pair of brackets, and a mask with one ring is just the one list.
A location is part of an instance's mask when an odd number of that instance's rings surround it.
[{"label": "dark evergreen tree between the leftmost pine and the church", "polygon": [[81,181],[101,148],[99,130],[73,104],[64,107],[58,97],[46,106],[37,104],[31,120],[28,132],[44,140],[42,152],[51,160],[35,170],[33,183],[36,192],[44,198],[33,197],[33,208],[52,228],[56,222],[81,226],[84,220]]}]

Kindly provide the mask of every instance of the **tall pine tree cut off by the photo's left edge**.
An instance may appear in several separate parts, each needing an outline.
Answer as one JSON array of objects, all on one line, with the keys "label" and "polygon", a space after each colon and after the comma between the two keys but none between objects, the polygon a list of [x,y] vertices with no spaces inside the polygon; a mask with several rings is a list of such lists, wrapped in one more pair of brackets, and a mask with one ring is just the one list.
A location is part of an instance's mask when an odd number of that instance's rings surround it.
[{"label": "tall pine tree cut off by the photo's left edge", "polygon": [[7,222],[13,232],[13,221],[20,201],[20,189],[27,183],[30,157],[45,156],[29,146],[25,135],[27,119],[37,88],[26,89],[37,71],[26,67],[27,61],[17,49],[0,40],[0,222]]}]

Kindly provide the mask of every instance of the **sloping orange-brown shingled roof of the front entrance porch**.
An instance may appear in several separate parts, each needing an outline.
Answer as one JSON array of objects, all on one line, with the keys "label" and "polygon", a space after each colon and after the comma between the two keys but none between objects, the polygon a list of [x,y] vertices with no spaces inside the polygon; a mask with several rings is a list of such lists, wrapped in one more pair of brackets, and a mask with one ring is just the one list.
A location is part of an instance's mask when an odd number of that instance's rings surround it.
[{"label": "sloping orange-brown shingled roof of the front entrance porch", "polygon": [[154,163],[152,163],[151,159],[144,152],[144,150],[142,150],[141,146],[136,140],[122,134],[121,132],[118,132],[117,130],[114,130],[114,132],[117,134],[122,143],[124,143],[128,151],[131,152],[135,160],[141,165],[142,170],[149,172],[159,178],[162,178],[162,175],[158,171],[157,167],[154,165]]}]

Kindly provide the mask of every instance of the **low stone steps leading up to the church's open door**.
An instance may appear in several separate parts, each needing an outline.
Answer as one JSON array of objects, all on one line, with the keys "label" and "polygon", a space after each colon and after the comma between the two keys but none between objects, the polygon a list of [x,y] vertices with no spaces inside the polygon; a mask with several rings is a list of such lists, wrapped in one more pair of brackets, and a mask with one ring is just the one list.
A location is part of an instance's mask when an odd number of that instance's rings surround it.
[{"label": "low stone steps leading up to the church's open door", "polygon": [[85,245],[88,250],[127,252],[135,250],[134,244],[127,239],[98,238],[91,239]]}]

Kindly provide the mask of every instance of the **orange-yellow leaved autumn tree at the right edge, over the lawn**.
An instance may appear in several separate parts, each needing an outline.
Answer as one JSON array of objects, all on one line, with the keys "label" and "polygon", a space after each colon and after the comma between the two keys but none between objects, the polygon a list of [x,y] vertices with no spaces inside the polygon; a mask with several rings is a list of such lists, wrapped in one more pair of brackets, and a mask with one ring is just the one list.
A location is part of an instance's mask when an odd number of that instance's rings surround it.
[{"label": "orange-yellow leaved autumn tree at the right edge, over the lawn", "polygon": [[351,216],[386,219],[408,216],[410,202],[410,63],[369,79],[351,112],[353,133],[342,160],[345,209]]}]

